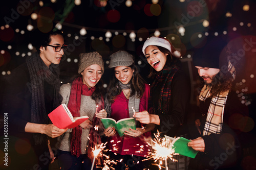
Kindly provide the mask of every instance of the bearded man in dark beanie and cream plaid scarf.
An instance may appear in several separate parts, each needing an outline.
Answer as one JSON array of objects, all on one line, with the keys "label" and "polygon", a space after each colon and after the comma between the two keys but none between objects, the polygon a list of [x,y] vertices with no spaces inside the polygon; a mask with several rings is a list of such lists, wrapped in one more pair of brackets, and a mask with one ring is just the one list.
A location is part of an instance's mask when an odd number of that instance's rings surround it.
[{"label": "bearded man in dark beanie and cream plaid scarf", "polygon": [[243,129],[239,129],[232,119],[237,115],[248,116],[248,108],[232,90],[236,70],[228,61],[229,54],[226,42],[213,38],[193,56],[204,86],[199,94],[200,106],[195,120],[199,137],[188,143],[200,152],[190,161],[189,169],[241,167]]}]

